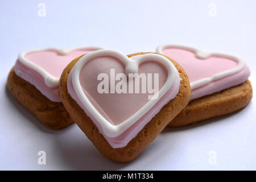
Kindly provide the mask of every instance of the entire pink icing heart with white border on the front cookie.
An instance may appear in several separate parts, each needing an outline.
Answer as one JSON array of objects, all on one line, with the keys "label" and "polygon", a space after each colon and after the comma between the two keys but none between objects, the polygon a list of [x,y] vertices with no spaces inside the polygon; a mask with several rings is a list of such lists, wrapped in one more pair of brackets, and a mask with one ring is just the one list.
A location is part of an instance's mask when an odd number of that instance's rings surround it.
[{"label": "entire pink icing heart with white border on the front cookie", "polygon": [[[179,91],[179,73],[170,60],[157,54],[146,54],[129,59],[123,53],[114,50],[100,50],[88,53],[77,61],[68,77],[68,92],[85,113],[96,124],[112,147],[127,144],[160,109],[176,96]],[[113,76],[111,70],[115,71]],[[118,73],[158,74],[159,92],[155,100],[148,100],[148,92],[142,93],[142,82],[139,93],[129,92],[130,80],[127,80],[127,93],[111,93],[112,83],[117,85],[120,80],[111,81]],[[126,74],[125,74],[126,73]],[[109,78],[108,93],[98,92],[98,76],[105,74]],[[148,84],[148,82],[146,82]],[[152,81],[154,88],[155,80]],[[156,93],[155,93],[156,94]],[[130,131],[131,126],[137,126]],[[127,132],[125,132],[127,131]],[[125,134],[126,137],[123,137]],[[121,136],[122,141],[120,138]]]}]

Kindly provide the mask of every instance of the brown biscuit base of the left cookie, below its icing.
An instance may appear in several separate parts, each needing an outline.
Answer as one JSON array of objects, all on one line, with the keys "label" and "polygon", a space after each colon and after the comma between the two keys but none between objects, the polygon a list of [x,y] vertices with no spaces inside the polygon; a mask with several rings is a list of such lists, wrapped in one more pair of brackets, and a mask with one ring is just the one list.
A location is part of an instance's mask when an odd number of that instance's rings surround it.
[{"label": "brown biscuit base of the left cookie, below its icing", "polygon": [[48,128],[61,129],[73,123],[61,102],[50,101],[34,85],[17,76],[14,68],[9,73],[7,88],[20,104]]}]

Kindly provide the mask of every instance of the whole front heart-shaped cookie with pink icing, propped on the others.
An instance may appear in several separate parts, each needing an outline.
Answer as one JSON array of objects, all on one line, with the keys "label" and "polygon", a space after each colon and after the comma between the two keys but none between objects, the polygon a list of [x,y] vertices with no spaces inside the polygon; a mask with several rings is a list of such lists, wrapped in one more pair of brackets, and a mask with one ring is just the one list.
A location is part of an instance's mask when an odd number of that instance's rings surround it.
[{"label": "whole front heart-shaped cookie with pink icing, propped on the others", "polygon": [[94,51],[73,60],[60,77],[65,109],[115,162],[134,159],[188,104],[190,92],[179,64],[149,52]]}]

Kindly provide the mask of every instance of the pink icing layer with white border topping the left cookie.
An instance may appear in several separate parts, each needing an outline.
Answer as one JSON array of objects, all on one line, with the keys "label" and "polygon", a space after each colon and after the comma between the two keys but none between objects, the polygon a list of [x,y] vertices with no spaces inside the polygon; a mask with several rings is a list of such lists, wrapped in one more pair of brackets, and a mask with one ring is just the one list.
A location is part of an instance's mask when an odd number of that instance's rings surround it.
[{"label": "pink icing layer with white border topping the left cookie", "polygon": [[35,85],[49,100],[61,102],[57,92],[63,69],[76,57],[98,49],[101,48],[46,48],[24,51],[16,61],[15,73]]}]

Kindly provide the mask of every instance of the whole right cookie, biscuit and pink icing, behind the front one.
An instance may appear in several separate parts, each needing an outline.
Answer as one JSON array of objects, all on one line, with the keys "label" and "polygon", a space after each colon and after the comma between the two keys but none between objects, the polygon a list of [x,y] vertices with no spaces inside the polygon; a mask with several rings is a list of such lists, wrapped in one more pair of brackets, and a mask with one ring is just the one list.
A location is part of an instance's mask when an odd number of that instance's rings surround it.
[{"label": "whole right cookie, biscuit and pink icing, behind the front one", "polygon": [[168,126],[178,127],[232,113],[253,95],[250,69],[238,57],[191,47],[163,45],[156,50],[179,63],[191,82],[191,101]]}]

